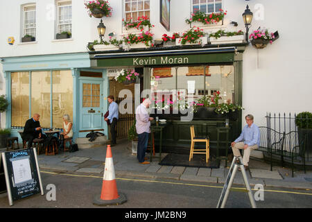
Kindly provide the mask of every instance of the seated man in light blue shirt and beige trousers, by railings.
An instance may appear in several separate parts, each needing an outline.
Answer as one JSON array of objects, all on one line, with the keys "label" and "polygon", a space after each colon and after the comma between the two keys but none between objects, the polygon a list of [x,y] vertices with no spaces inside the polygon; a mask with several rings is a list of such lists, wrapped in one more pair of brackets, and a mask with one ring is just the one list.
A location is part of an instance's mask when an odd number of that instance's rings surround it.
[{"label": "seated man in light blue shirt and beige trousers, by railings", "polygon": [[239,149],[244,150],[243,164],[245,169],[248,169],[248,162],[250,152],[259,148],[260,145],[260,130],[256,124],[254,124],[254,117],[252,114],[248,114],[245,117],[247,125],[243,128],[241,135],[232,142],[232,151],[234,156],[241,156]]}]

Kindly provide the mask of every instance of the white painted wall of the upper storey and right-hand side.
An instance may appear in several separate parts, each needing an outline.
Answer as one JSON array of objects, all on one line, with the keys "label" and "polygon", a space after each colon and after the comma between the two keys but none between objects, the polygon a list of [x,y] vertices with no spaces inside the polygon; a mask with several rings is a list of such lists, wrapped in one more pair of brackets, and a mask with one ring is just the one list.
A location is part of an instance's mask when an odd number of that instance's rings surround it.
[{"label": "white painted wall of the upper storey and right-hand side", "polygon": [[[37,43],[20,44],[20,7],[21,4],[28,2],[37,3]],[[82,52],[87,51],[87,42],[98,40],[96,26],[100,19],[88,17],[83,0],[73,0],[73,40],[53,42],[54,21],[47,19],[49,12],[46,7],[54,2],[54,0],[0,1],[0,58]],[[107,27],[106,39],[111,32],[121,35],[122,2],[110,0],[113,16],[103,19]],[[311,112],[312,31],[307,23],[312,1],[301,0],[300,4],[289,4],[284,0],[223,0],[223,8],[227,10],[224,28],[245,31],[241,15],[247,3],[254,12],[250,33],[261,26],[269,28],[272,32],[279,31],[280,37],[266,49],[257,50],[249,45],[243,54],[243,107],[245,108],[243,117],[248,113],[254,114],[255,123],[264,126],[266,112]],[[263,11],[259,10],[259,6]],[[300,10],[295,12],[294,7]],[[155,25],[152,29],[155,38],[160,39],[164,33],[186,31],[189,25],[184,20],[189,17],[190,10],[191,0],[171,0],[171,31],[167,32],[159,23],[159,1],[150,0],[150,21]],[[263,19],[259,19],[261,12],[263,12]],[[239,26],[229,25],[231,21],[238,22]],[[10,36],[15,37],[16,40],[13,46],[7,43]],[[5,92],[5,85],[0,92]]]}]

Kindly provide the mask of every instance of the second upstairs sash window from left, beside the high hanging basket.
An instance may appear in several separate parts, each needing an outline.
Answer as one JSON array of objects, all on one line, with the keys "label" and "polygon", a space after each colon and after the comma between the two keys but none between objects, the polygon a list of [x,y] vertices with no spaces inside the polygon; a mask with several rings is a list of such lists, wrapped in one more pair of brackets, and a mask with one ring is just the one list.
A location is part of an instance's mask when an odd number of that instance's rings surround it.
[{"label": "second upstairs sash window from left, beside the high hanging basket", "polygon": [[57,33],[71,33],[71,1],[58,1],[57,18]]}]

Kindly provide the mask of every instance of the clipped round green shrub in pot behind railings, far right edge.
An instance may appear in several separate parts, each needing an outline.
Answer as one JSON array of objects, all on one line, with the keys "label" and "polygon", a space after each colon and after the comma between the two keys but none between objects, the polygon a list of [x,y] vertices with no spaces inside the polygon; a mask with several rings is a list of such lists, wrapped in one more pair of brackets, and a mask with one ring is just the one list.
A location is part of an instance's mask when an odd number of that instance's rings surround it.
[{"label": "clipped round green shrub in pot behind railings, far right edge", "polygon": [[312,113],[300,112],[295,118],[295,123],[298,128],[299,142],[307,137],[306,151],[312,149]]}]

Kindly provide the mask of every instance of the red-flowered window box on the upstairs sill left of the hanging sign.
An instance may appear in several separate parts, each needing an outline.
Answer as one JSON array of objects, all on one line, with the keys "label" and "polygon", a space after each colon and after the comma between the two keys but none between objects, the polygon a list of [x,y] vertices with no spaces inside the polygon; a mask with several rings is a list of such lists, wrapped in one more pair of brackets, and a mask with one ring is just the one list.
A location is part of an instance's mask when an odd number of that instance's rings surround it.
[{"label": "red-flowered window box on the upstairs sill left of the hanging sign", "polygon": [[123,19],[123,29],[128,33],[137,31],[149,31],[154,25],[150,24],[150,19],[147,16],[137,17],[137,20],[125,21]]}]

